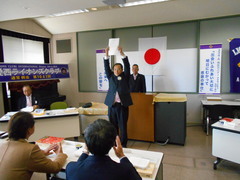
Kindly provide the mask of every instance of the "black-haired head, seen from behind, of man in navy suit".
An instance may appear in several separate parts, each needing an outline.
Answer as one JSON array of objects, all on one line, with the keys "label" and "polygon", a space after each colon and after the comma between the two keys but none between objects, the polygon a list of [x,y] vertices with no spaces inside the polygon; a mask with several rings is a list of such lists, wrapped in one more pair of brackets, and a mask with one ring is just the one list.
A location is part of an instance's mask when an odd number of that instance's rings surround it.
[{"label": "black-haired head, seen from behind, of man in navy suit", "polygon": [[90,153],[104,156],[114,146],[117,136],[115,127],[109,121],[98,119],[84,131],[84,139]]}]

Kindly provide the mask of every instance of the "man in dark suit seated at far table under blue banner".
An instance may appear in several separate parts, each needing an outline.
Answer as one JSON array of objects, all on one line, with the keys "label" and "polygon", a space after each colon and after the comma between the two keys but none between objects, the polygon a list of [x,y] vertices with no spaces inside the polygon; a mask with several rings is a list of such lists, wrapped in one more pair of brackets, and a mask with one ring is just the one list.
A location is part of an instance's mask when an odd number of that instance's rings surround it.
[{"label": "man in dark suit seated at far table under blue banner", "polygon": [[23,88],[24,96],[18,100],[18,110],[25,107],[33,107],[33,109],[39,108],[39,102],[36,96],[32,94],[32,89],[29,85],[24,85]]}]

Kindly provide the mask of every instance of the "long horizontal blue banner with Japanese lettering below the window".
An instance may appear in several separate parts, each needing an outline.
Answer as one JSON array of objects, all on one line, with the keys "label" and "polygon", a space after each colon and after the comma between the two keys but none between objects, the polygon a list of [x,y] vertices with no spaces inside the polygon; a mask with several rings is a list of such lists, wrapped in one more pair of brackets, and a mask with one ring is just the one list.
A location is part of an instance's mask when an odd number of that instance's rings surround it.
[{"label": "long horizontal blue banner with Japanese lettering below the window", "polygon": [[67,64],[0,64],[0,82],[69,78]]}]

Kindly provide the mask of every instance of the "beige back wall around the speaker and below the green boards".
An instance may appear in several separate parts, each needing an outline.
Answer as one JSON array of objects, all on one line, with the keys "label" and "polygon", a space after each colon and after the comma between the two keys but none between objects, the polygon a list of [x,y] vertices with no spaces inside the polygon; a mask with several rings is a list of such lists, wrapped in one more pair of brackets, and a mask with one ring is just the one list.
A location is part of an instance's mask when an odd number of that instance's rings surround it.
[{"label": "beige back wall around the speaker and below the green boards", "polygon": [[[71,39],[71,53],[56,53],[56,40]],[[70,79],[61,79],[58,84],[59,93],[67,96],[69,106],[78,107],[79,103],[86,102],[104,102],[106,93],[97,92],[78,92],[78,64],[77,64],[77,43],[76,33],[53,35],[52,38],[52,55],[54,64],[66,63],[70,68]],[[86,79],[87,81],[87,79]],[[223,99],[239,98],[237,94],[222,94]],[[206,95],[187,94],[187,122],[200,124],[202,123],[201,100],[206,99]]]}]

